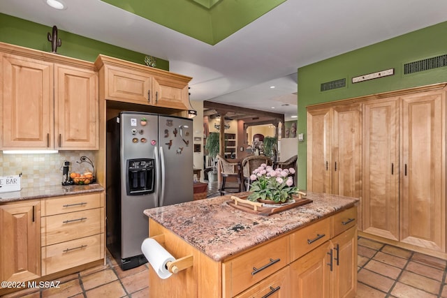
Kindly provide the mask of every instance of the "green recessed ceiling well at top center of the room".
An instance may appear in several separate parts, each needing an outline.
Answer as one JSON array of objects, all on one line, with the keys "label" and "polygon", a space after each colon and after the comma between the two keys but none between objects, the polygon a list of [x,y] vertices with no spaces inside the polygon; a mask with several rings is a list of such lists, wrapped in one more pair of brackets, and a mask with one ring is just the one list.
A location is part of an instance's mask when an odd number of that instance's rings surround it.
[{"label": "green recessed ceiling well at top center of the room", "polygon": [[286,0],[102,0],[215,45]]}]

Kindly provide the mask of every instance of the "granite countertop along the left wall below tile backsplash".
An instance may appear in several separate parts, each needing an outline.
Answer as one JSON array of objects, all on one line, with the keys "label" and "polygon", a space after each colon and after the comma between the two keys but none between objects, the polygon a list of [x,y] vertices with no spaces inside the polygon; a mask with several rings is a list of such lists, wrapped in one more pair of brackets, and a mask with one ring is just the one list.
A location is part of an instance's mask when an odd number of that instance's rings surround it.
[{"label": "granite countertop along the left wall below tile backsplash", "polygon": [[45,186],[36,188],[22,188],[21,191],[0,193],[0,204],[22,200],[59,197],[62,195],[78,195],[80,193],[97,193],[104,191],[100,184],[71,185],[71,186]]}]

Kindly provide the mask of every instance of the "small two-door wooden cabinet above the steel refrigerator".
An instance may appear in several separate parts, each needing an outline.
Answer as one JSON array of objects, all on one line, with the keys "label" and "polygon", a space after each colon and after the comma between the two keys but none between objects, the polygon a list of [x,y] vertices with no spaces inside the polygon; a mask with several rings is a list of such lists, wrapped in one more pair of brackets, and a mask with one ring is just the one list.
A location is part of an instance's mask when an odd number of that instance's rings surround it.
[{"label": "small two-door wooden cabinet above the steel refrigerator", "polygon": [[99,55],[100,97],[124,103],[188,110],[191,77]]}]

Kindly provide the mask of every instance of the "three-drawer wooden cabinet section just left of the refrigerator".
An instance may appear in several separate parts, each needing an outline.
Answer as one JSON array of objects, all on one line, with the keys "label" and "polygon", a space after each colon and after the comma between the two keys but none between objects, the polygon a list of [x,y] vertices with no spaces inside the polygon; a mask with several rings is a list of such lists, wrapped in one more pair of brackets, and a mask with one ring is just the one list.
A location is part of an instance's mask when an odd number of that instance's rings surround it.
[{"label": "three-drawer wooden cabinet section just left of the refrigerator", "polygon": [[104,258],[104,195],[43,200],[42,275]]}]

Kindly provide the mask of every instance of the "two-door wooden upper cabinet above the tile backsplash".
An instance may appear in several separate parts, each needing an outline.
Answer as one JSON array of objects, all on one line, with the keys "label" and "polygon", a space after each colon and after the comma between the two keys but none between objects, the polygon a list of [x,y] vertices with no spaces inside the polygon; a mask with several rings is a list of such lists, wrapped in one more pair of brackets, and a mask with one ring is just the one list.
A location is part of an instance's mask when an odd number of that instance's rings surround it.
[{"label": "two-door wooden upper cabinet above the tile backsplash", "polygon": [[94,65],[0,44],[0,149],[98,149]]}]

